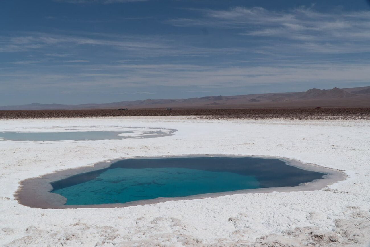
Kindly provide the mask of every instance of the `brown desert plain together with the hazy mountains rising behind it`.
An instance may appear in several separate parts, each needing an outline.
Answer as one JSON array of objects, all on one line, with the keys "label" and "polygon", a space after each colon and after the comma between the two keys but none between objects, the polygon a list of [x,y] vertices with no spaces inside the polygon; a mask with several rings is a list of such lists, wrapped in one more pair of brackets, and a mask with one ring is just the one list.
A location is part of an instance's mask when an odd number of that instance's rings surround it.
[{"label": "brown desert plain together with the hazy mountains rising behind it", "polygon": [[0,107],[2,119],[166,115],[252,119],[369,119],[370,86],[189,99],[146,99],[81,105],[32,103]]}]

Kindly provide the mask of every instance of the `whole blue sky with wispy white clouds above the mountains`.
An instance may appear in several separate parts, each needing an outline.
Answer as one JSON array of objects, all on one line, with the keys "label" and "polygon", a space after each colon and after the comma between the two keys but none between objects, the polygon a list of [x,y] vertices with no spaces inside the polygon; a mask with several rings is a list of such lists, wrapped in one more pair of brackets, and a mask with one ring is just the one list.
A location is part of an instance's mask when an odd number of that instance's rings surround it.
[{"label": "whole blue sky with wispy white clouds above the mountains", "polygon": [[365,0],[0,0],[0,105],[370,85]]}]

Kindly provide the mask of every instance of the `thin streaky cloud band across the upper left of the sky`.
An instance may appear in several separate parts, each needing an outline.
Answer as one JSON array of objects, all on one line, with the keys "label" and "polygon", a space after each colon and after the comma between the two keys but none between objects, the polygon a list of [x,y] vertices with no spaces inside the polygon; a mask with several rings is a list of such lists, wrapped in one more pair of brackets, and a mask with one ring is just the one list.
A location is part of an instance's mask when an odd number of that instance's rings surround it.
[{"label": "thin streaky cloud band across the upper left of the sky", "polygon": [[[71,51],[118,50],[125,57],[195,57],[238,54],[243,47],[197,47],[190,45],[184,36],[110,35],[102,33],[51,34],[40,32],[19,33],[18,36],[0,36],[0,52],[26,52],[44,50],[46,56],[67,57]],[[182,39],[182,40],[181,40]],[[55,53],[58,49],[58,53]],[[116,53],[111,53],[113,56]],[[80,60],[80,59],[78,59]]]}]

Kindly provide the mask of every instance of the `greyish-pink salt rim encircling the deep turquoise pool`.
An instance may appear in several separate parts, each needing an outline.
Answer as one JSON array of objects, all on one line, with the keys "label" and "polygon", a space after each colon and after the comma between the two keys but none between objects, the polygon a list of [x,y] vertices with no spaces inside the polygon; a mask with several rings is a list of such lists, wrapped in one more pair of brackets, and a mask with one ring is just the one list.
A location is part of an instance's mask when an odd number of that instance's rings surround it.
[{"label": "greyish-pink salt rim encircling the deep turquoise pool", "polygon": [[[160,197],[150,200],[139,200],[126,203],[116,204],[90,204],[90,205],[63,205],[66,198],[50,191],[53,189],[49,182],[63,180],[64,178],[71,177],[76,174],[84,172],[95,171],[109,167],[113,162],[122,159],[151,159],[151,158],[190,158],[190,157],[250,157],[250,158],[267,158],[267,159],[280,159],[286,162],[287,165],[295,166],[307,171],[323,172],[326,173],[324,178],[306,182],[295,187],[270,187],[270,188],[257,188],[248,190],[237,190],[227,192],[215,192],[207,194],[190,195],[186,197]],[[58,179],[55,179],[54,175],[58,174]],[[40,209],[67,209],[67,208],[119,208],[119,207],[131,207],[138,205],[157,204],[159,202],[166,201],[179,201],[179,200],[194,200],[203,198],[215,198],[226,195],[235,194],[249,194],[249,193],[270,193],[270,192],[298,192],[298,191],[314,191],[326,188],[336,182],[346,180],[348,176],[340,170],[325,168],[315,164],[306,164],[296,159],[288,159],[282,157],[272,156],[258,156],[258,155],[225,155],[225,154],[192,154],[192,155],[165,155],[165,156],[146,156],[146,157],[124,157],[118,159],[110,159],[95,163],[93,166],[84,166],[71,169],[63,169],[54,171],[52,173],[44,174],[39,177],[28,178],[20,181],[21,185],[18,190],[14,193],[15,199],[19,204],[26,207],[40,208]],[[37,188],[37,190],[35,190]],[[33,200],[35,197],[40,200]]]}]

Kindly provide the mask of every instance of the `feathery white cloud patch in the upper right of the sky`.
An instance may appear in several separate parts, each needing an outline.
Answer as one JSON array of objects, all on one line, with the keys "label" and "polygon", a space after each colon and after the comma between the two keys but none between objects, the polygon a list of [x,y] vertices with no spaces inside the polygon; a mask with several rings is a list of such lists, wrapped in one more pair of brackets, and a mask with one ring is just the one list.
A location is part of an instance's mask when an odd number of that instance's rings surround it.
[{"label": "feathery white cloud patch in the upper right of the sky", "polygon": [[[229,10],[193,10],[193,19],[172,19],[174,26],[210,26],[235,29],[239,35],[259,38],[263,43],[301,44],[305,52],[370,52],[370,11],[332,11],[322,13],[301,7],[272,11],[261,7],[233,7]],[[322,46],[320,49],[315,48]],[[346,48],[346,49],[344,49]]]}]

